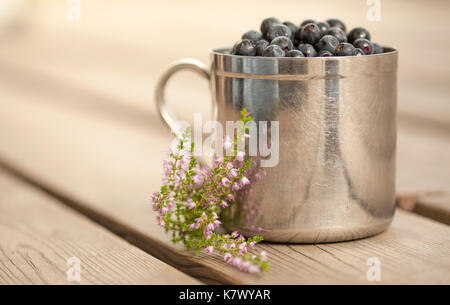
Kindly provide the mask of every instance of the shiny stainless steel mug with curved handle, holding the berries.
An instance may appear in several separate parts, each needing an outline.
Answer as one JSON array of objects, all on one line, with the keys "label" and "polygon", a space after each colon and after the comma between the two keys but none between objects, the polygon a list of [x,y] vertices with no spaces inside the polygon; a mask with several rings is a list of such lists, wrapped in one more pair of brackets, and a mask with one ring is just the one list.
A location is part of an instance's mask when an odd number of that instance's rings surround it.
[{"label": "shiny stainless steel mug with curved handle, holding the berries", "polygon": [[[245,107],[256,121],[279,121],[279,163],[265,168],[247,200],[252,217],[225,226],[292,243],[335,242],[384,231],[395,211],[398,52],[352,57],[269,58],[211,51],[211,68],[175,62],[156,90],[170,128],[164,86],[182,69],[210,81],[222,124]],[[245,213],[245,211],[238,211]]]}]

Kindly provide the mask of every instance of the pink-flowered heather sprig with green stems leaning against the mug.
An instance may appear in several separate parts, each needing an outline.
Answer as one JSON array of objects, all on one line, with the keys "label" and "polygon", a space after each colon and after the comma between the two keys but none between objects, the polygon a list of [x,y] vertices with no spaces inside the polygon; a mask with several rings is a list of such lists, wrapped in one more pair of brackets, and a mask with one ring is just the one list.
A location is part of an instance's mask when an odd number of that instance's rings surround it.
[{"label": "pink-flowered heather sprig with green stems leaning against the mug", "polygon": [[251,184],[247,175],[252,158],[240,151],[249,137],[246,123],[252,120],[243,109],[241,124],[233,140],[226,136],[223,148],[228,154],[215,157],[211,167],[203,166],[194,156],[191,130],[186,129],[176,149],[168,151],[163,162],[163,186],[152,195],[157,222],[172,235],[172,242],[182,242],[196,253],[220,253],[225,262],[242,271],[256,273],[268,268],[265,251],[250,249],[263,238],[245,238],[238,232],[216,233],[221,225],[219,215],[237,203],[238,192]]}]

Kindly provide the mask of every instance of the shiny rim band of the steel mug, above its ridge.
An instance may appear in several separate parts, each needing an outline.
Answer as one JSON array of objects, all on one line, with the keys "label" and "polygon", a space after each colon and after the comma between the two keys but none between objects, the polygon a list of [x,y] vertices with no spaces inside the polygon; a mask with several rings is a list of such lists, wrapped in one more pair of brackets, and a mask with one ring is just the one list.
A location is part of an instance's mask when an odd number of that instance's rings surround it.
[{"label": "shiny rim band of the steel mug, above its ridge", "polygon": [[373,77],[397,73],[398,50],[364,56],[263,57],[229,54],[230,48],[210,50],[211,72],[228,78],[302,80]]}]

